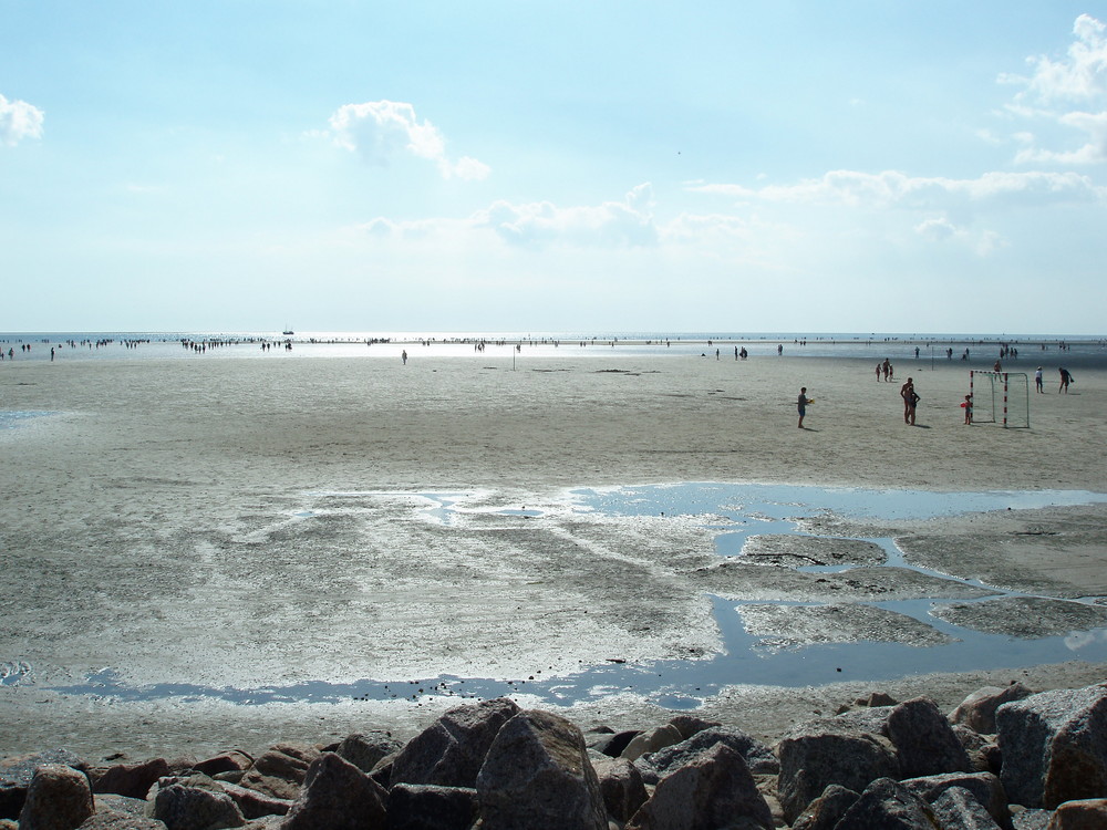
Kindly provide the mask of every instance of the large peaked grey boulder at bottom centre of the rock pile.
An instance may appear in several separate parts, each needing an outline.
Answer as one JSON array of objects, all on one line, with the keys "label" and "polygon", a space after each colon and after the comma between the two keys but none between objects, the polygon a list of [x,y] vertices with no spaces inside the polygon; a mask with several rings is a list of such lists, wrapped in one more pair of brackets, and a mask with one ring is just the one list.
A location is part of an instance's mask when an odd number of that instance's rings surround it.
[{"label": "large peaked grey boulder at bottom centre of the rock pile", "polygon": [[482,830],[607,830],[584,736],[559,715],[527,710],[504,724],[476,784]]}]

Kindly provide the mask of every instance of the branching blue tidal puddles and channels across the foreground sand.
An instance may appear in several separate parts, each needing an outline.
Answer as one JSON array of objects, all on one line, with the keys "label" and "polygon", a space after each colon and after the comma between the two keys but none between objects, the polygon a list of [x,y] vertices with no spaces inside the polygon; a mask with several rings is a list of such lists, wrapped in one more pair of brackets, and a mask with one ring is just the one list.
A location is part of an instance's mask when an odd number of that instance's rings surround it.
[{"label": "branching blue tidal puddles and channels across the foreground sand", "polygon": [[[427,500],[425,513],[449,526],[454,511],[462,509],[462,494],[415,494]],[[828,510],[849,518],[927,519],[997,509],[1030,509],[1107,502],[1107,495],[1088,491],[994,491],[935,494],[917,490],[824,489],[727,484],[680,484],[575,490],[573,507],[609,516],[703,516],[704,527],[718,529],[716,550],[736,556],[753,535],[806,536],[796,520]],[[540,515],[511,509],[505,515]],[[722,523],[721,523],[722,522]],[[832,538],[832,537],[819,537]],[[987,602],[1025,594],[1005,591],[979,581],[960,580],[935,571],[913,568],[891,539],[862,539],[880,546],[887,554],[882,564],[869,567],[911,568],[930,577],[987,591],[971,602]],[[865,566],[845,566],[865,568]],[[831,571],[840,567],[810,567],[801,570]],[[954,592],[955,593],[955,592]],[[1104,598],[1084,598],[1087,605]],[[964,603],[964,599],[955,600]],[[770,637],[751,634],[743,624],[745,605],[825,606],[824,603],[734,602],[713,596],[714,615],[723,639],[723,650],[701,660],[665,660],[629,664],[618,660],[599,665],[581,665],[569,676],[526,678],[482,678],[438,676],[415,681],[364,679],[353,683],[312,681],[288,686],[257,688],[209,687],[187,683],[128,686],[112,670],[104,670],[82,685],[59,687],[68,694],[91,694],[145,701],[219,698],[239,704],[276,702],[418,701],[424,696],[488,698],[525,693],[539,704],[567,706],[611,694],[632,693],[669,708],[694,708],[704,698],[735,684],[806,686],[837,681],[880,681],[930,672],[961,672],[1013,668],[1069,660],[1107,661],[1107,627],[1068,632],[1064,636],[1015,639],[965,629],[931,614],[931,610],[954,600],[908,600],[857,603],[912,618],[945,635],[940,645],[919,646],[893,642],[832,642],[804,645],[774,645]],[[1074,601],[1077,602],[1077,601]]]}]

